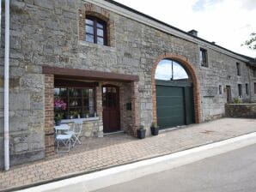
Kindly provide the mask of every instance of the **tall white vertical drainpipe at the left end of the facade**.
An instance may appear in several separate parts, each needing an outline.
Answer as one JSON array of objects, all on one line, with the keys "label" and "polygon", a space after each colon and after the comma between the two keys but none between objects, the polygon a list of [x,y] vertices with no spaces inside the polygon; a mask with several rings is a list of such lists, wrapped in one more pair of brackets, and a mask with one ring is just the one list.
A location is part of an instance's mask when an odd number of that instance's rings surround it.
[{"label": "tall white vertical drainpipe at the left end of the facade", "polygon": [[9,0],[5,0],[4,47],[4,170],[9,171]]}]

